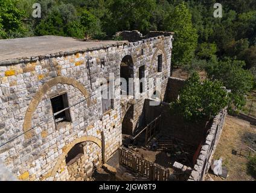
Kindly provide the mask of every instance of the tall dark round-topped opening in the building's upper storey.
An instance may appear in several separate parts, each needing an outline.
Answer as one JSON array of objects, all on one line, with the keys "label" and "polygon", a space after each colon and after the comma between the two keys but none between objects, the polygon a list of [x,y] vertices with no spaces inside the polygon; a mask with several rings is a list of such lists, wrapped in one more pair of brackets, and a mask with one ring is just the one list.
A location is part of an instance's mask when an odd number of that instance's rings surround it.
[{"label": "tall dark round-topped opening in the building's upper storey", "polygon": [[121,95],[133,95],[133,87],[129,87],[129,78],[133,77],[133,60],[130,55],[126,55],[120,65],[120,78],[126,80],[126,84],[121,83]]}]

